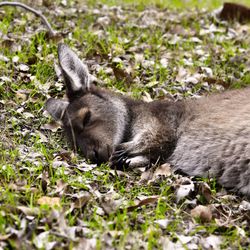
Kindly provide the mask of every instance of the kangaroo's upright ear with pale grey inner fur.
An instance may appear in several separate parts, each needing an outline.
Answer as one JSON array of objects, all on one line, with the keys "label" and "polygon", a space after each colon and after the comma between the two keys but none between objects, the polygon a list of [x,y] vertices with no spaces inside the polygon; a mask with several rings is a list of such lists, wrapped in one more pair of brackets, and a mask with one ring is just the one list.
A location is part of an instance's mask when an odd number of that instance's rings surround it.
[{"label": "kangaroo's upright ear with pale grey inner fur", "polygon": [[90,87],[88,67],[65,44],[58,45],[59,64],[66,84],[67,96],[73,100]]}]

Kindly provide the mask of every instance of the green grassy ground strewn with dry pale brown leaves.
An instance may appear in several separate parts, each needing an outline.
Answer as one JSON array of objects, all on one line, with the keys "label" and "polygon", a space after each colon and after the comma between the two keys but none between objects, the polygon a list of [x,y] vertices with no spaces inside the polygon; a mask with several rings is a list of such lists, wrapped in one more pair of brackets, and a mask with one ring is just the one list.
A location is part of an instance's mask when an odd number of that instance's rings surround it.
[{"label": "green grassy ground strewn with dry pale brown leaves", "polygon": [[218,4],[173,3],[37,1],[54,37],[32,13],[0,9],[0,249],[249,249],[244,197],[167,163],[147,172],[91,164],[44,110],[65,94],[59,42],[98,86],[146,101],[249,84],[250,25],[219,20]]}]

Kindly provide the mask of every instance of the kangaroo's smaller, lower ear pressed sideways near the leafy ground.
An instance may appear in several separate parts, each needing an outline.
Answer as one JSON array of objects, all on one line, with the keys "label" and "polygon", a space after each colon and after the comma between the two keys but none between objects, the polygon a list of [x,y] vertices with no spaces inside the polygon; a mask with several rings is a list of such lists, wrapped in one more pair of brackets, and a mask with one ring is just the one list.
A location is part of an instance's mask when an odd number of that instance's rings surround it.
[{"label": "kangaroo's smaller, lower ear pressed sideways near the leafy ground", "polygon": [[56,120],[61,120],[69,103],[67,101],[50,98],[45,104],[45,109]]}]

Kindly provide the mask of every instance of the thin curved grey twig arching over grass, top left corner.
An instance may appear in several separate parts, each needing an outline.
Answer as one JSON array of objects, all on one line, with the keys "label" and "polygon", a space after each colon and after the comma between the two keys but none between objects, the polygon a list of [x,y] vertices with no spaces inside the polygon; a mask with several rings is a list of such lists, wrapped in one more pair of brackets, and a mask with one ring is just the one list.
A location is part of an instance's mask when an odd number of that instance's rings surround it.
[{"label": "thin curved grey twig arching over grass, top left corner", "polygon": [[28,6],[24,3],[19,3],[19,2],[1,2],[0,7],[2,7],[2,6],[17,6],[17,7],[21,7],[25,10],[32,12],[33,14],[35,14],[36,16],[38,16],[42,19],[43,23],[45,24],[45,26],[49,30],[49,36],[54,37],[57,34],[57,32],[52,29],[47,18],[41,12],[31,8],[30,6]]}]

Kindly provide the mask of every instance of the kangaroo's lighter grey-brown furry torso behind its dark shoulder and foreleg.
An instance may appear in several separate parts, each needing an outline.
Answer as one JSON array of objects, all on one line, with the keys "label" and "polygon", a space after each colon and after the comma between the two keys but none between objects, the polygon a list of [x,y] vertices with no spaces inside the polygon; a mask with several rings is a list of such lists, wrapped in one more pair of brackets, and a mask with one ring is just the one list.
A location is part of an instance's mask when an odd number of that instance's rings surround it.
[{"label": "kangaroo's lighter grey-brown furry torso behind its dark shoulder and foreleg", "polygon": [[187,101],[187,115],[170,157],[175,169],[215,176],[250,195],[250,88]]}]

